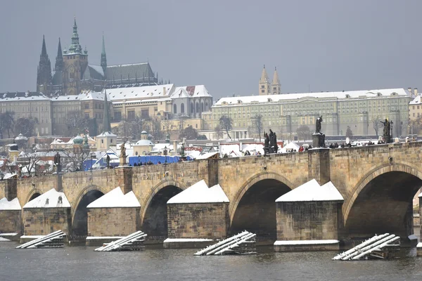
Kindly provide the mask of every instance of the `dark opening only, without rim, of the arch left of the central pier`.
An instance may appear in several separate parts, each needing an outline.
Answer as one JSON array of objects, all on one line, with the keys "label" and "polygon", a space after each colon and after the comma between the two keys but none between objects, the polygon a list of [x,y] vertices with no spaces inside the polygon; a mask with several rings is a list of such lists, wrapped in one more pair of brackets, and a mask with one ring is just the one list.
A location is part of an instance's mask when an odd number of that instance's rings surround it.
[{"label": "dark opening only, without rim, of the arch left of the central pier", "polygon": [[181,191],[175,185],[167,185],[153,195],[144,211],[141,228],[148,234],[148,239],[164,240],[167,237],[167,201]]}]

